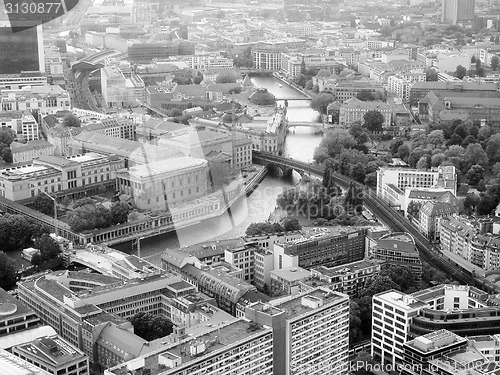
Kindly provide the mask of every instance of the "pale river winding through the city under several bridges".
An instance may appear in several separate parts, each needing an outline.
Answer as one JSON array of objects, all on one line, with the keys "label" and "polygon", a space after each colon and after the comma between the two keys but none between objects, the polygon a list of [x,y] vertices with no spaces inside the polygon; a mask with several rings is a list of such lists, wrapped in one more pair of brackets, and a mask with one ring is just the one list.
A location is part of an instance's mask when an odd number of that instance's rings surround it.
[{"label": "pale river winding through the city under several bridges", "polygon": [[[303,98],[304,96],[293,88],[283,85],[272,76],[251,78],[257,87],[265,87],[278,98]],[[278,86],[278,84],[282,86]],[[309,106],[310,100],[290,100],[288,102],[288,119],[290,121],[314,122],[318,113]],[[314,149],[321,141],[321,134],[307,127],[297,127],[287,135],[285,155],[301,161],[311,161]],[[178,248],[214,238],[225,239],[242,236],[249,224],[265,221],[274,211],[276,197],[286,187],[294,186],[299,178],[294,174],[292,179],[281,179],[268,175],[251,196],[242,199],[232,209],[233,220],[229,215],[207,220],[203,223],[181,229],[177,233],[168,233],[141,241],[141,256],[155,264],[159,264],[161,254],[166,248]],[[195,234],[195,235],[194,235]],[[131,243],[114,246],[127,253],[135,253]]]}]

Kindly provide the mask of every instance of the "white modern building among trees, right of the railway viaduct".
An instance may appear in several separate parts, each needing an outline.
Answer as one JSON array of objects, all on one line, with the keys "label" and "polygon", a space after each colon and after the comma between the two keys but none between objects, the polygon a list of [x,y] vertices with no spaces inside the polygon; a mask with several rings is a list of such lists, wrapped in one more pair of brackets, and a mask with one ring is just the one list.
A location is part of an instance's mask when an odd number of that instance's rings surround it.
[{"label": "white modern building among trees, right of the railway viaduct", "polygon": [[377,195],[392,206],[405,207],[406,189],[448,190],[456,196],[457,174],[454,166],[439,166],[423,171],[405,167],[381,167],[377,171]]}]

